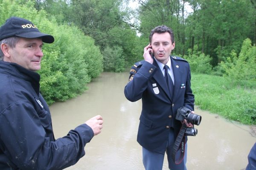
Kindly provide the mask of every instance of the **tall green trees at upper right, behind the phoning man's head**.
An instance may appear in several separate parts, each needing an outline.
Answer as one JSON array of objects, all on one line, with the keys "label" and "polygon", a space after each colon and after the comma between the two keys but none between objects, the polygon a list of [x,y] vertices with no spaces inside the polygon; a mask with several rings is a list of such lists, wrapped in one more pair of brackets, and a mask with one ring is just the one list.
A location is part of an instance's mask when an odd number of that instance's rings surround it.
[{"label": "tall green trees at upper right, behind the phoning man's head", "polygon": [[[256,10],[250,0],[147,0],[138,1],[142,37],[155,26],[166,25],[175,34],[175,54],[187,54],[189,48],[209,55],[211,65],[224,61],[231,50],[239,53],[241,42],[249,37],[256,43]],[[183,2],[192,8],[183,11]],[[187,17],[186,17],[187,16]]]}]

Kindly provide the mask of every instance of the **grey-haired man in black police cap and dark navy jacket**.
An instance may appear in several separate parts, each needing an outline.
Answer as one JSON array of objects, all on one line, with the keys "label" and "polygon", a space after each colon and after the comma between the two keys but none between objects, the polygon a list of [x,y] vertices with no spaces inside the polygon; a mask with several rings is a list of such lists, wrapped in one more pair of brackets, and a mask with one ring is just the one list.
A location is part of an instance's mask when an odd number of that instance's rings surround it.
[{"label": "grey-haired man in black police cap and dark navy jacket", "polygon": [[39,90],[43,42],[29,20],[11,17],[0,27],[0,170],[61,170],[84,156],[102,129],[98,115],[55,140],[50,111]]}]

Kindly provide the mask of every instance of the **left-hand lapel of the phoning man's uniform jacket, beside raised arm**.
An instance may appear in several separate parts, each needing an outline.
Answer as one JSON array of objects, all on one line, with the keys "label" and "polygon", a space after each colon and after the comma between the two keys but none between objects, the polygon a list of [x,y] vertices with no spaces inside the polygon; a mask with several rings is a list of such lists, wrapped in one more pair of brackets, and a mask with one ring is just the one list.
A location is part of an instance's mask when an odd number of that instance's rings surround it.
[{"label": "left-hand lapel of the phoning man's uniform jacket, beside raised arm", "polygon": [[167,87],[167,84],[166,84],[166,80],[164,79],[163,77],[163,73],[162,71],[160,70],[157,62],[155,61],[154,59],[154,62],[153,62],[153,65],[157,67],[157,71],[156,73],[153,75],[154,79],[156,80],[156,82],[158,83],[158,85],[163,88],[163,91],[166,93],[166,95],[168,96],[168,98],[171,100],[172,102],[172,97],[171,97],[171,94],[168,90],[168,87]]}]

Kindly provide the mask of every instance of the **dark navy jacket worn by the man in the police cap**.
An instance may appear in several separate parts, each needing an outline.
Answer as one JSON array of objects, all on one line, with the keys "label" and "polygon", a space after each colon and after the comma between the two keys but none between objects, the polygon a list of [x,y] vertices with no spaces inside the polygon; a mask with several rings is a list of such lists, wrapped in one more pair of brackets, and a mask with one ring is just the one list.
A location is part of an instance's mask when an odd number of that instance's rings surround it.
[{"label": "dark navy jacket worn by the man in the police cap", "polygon": [[39,74],[0,61],[0,170],[61,170],[84,156],[93,138],[86,124],[54,139]]}]

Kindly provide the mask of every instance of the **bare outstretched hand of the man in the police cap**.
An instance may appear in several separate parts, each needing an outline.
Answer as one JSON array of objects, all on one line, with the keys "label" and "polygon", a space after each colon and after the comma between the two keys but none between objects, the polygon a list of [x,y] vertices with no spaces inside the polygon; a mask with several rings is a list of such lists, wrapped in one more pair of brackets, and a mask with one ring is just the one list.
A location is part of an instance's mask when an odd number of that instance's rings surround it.
[{"label": "bare outstretched hand of the man in the police cap", "polygon": [[87,120],[85,124],[87,124],[92,128],[94,136],[96,136],[99,133],[101,133],[102,124],[103,124],[102,116],[97,115],[95,117],[92,117],[89,120]]}]

